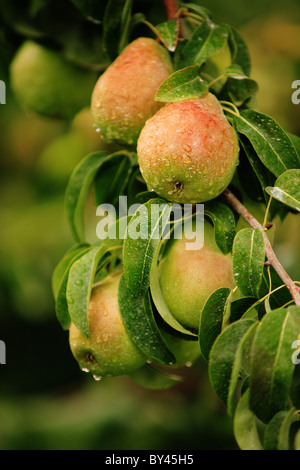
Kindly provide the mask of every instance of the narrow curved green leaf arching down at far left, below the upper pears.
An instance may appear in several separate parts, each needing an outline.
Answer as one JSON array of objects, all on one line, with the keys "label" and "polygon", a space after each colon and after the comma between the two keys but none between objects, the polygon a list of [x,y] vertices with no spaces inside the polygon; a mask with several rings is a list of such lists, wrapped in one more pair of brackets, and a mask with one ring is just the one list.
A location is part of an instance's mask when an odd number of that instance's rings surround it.
[{"label": "narrow curved green leaf arching down at far left, below the upper pears", "polygon": [[67,219],[76,241],[84,239],[86,197],[99,168],[107,161],[107,152],[96,152],[84,158],[73,170],[65,193]]}]

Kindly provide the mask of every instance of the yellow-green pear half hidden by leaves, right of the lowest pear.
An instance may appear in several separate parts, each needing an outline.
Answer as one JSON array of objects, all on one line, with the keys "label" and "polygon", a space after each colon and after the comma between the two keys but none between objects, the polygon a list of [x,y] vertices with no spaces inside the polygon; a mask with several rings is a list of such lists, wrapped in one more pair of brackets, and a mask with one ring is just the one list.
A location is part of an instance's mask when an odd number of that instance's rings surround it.
[{"label": "yellow-green pear half hidden by leaves, right of the lowest pear", "polygon": [[216,245],[213,227],[205,221],[201,249],[187,250],[186,238],[173,240],[159,265],[160,286],[173,316],[186,328],[198,330],[208,297],[220,287],[235,287],[231,254]]}]

